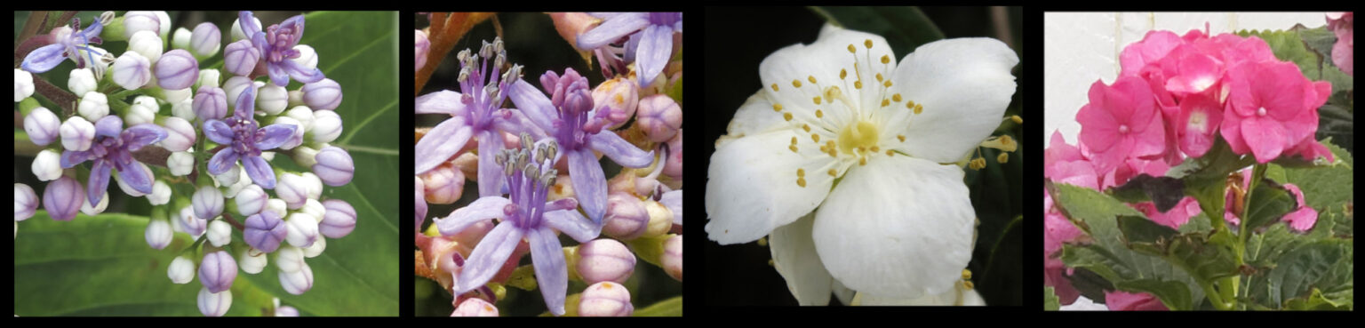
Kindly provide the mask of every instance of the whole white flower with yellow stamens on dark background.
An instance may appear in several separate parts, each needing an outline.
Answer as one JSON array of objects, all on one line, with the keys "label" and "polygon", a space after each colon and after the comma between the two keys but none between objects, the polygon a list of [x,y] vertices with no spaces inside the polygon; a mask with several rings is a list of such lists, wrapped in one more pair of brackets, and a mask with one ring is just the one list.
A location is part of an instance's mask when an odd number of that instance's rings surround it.
[{"label": "whole white flower with yellow stamens on dark background", "polygon": [[891,56],[882,37],[826,26],[815,44],[763,60],[763,89],[717,141],[710,239],[773,234],[774,262],[801,303],[827,302],[839,284],[938,295],[971,260],[964,172],[942,163],[999,124],[1018,56],[991,38],[930,42],[900,66]]}]

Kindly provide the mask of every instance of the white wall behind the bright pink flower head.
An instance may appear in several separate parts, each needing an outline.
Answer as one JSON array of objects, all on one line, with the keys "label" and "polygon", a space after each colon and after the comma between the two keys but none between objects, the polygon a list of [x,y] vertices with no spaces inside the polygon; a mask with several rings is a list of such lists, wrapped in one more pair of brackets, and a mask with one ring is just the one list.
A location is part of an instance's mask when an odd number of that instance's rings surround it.
[{"label": "white wall behind the bright pink flower head", "polygon": [[1046,12],[1043,14],[1043,108],[1047,146],[1054,130],[1076,144],[1081,126],[1076,112],[1088,102],[1085,92],[1096,79],[1112,83],[1118,77],[1118,55],[1123,46],[1141,41],[1149,30],[1170,30],[1183,36],[1204,30],[1213,34],[1234,30],[1283,30],[1295,23],[1308,27],[1327,25],[1324,12]]}]

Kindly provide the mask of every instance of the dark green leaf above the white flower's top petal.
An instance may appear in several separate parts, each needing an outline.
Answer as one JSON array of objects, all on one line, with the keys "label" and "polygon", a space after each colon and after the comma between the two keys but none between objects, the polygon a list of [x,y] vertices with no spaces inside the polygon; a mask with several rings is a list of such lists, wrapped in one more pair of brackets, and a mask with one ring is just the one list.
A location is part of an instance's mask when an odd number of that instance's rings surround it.
[{"label": "dark green leaf above the white flower's top petal", "polygon": [[917,7],[811,7],[834,26],[878,34],[890,42],[893,57],[943,38],[943,31]]}]

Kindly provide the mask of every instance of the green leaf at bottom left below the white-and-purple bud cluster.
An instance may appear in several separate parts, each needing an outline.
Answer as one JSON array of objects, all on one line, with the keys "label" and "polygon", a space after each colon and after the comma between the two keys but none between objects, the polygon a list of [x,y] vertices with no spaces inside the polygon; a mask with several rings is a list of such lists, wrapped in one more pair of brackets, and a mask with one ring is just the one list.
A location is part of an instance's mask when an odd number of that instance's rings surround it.
[{"label": "green leaf at bottom left below the white-and-purple bud cluster", "polygon": [[[18,316],[202,316],[199,280],[171,283],[167,268],[194,243],[175,234],[162,250],[147,246],[147,217],[78,215],[52,220],[40,210],[19,223],[14,242],[14,312]],[[261,316],[270,298],[238,275],[228,316]]]}]

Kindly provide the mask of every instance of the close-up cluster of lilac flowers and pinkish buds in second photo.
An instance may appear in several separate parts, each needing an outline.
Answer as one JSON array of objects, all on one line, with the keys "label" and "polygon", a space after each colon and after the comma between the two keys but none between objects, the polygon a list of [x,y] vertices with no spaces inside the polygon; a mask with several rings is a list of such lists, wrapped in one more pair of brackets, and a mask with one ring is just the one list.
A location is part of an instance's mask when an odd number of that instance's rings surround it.
[{"label": "close-up cluster of lilac flowers and pinkish buds in second photo", "polygon": [[[528,82],[526,68],[494,38],[455,56],[459,90],[416,98],[418,115],[444,119],[418,128],[418,272],[455,295],[452,316],[497,316],[502,286],[538,288],[556,316],[629,316],[629,291],[620,283],[636,260],[682,280],[676,235],[682,223],[682,108],[663,92],[681,77],[681,60],[672,60],[681,23],[676,12],[618,15],[673,19],[666,30],[632,25],[607,31],[610,18],[551,14],[571,45],[601,38],[595,45],[603,52],[620,52],[629,40],[650,40],[651,59],[616,53],[624,71],[605,68],[609,79],[597,86],[573,68]],[[564,25],[572,25],[568,34]],[[442,33],[435,26],[416,31],[418,68],[441,60],[427,57],[440,48],[427,36]],[[603,156],[622,167],[614,178],[607,178]],[[460,201],[465,179],[478,183],[472,202]],[[450,213],[427,212],[448,204],[455,204]],[[564,247],[558,232],[579,245]],[[517,268],[527,254],[532,264]],[[536,283],[520,283],[532,273]],[[569,280],[592,287],[568,295]]]}]

